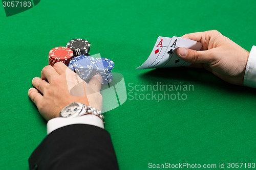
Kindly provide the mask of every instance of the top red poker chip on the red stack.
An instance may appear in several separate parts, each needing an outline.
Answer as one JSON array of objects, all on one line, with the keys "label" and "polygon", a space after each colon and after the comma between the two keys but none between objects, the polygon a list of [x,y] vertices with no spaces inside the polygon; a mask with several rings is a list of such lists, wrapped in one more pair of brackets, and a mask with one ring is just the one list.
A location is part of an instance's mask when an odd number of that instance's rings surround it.
[{"label": "top red poker chip on the red stack", "polygon": [[70,48],[64,46],[52,48],[52,50],[49,52],[49,60],[52,59],[55,61],[70,61],[72,57],[73,51]]}]

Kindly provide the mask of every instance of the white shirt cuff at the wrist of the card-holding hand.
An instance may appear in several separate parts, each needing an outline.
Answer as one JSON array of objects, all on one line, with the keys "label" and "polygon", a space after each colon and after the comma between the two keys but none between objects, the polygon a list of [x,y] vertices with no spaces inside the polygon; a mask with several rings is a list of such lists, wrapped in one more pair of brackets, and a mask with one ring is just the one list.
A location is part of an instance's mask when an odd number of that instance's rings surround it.
[{"label": "white shirt cuff at the wrist of the card-holding hand", "polygon": [[250,55],[247,61],[244,86],[256,88],[256,46],[252,46]]}]

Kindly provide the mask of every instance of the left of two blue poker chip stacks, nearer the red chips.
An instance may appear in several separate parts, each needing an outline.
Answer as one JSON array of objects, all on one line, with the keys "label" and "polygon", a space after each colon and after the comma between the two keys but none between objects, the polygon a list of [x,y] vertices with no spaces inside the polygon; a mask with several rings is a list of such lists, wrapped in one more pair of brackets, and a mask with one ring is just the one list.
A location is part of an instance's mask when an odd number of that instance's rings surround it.
[{"label": "left of two blue poker chip stacks, nearer the red chips", "polygon": [[69,63],[69,68],[84,81],[91,79],[93,76],[93,66],[95,65],[94,58],[90,56],[76,56]]}]

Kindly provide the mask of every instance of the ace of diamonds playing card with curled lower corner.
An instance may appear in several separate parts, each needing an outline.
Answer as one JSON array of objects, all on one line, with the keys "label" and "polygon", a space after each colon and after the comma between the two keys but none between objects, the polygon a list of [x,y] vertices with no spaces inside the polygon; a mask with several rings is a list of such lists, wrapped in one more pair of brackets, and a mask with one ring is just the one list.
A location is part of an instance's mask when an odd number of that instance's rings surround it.
[{"label": "ace of diamonds playing card with curled lower corner", "polygon": [[148,57],[148,59],[137,69],[143,68],[156,68],[159,62],[162,60],[163,55],[166,53],[167,47],[169,46],[172,38],[158,37],[156,44]]}]

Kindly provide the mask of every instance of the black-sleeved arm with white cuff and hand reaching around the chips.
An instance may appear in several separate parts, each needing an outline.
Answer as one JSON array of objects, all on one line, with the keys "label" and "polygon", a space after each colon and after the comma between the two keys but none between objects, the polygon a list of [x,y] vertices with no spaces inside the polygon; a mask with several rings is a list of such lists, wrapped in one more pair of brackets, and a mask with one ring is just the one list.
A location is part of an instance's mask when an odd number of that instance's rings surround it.
[{"label": "black-sleeved arm with white cuff and hand reaching around the chips", "polygon": [[[95,76],[87,84],[60,62],[46,66],[41,78],[32,80],[35,88],[29,89],[29,97],[49,122],[47,137],[29,158],[30,169],[118,169],[110,134],[99,117],[59,117],[73,102],[101,110],[101,81]],[[79,94],[71,95],[74,88]]]}]

